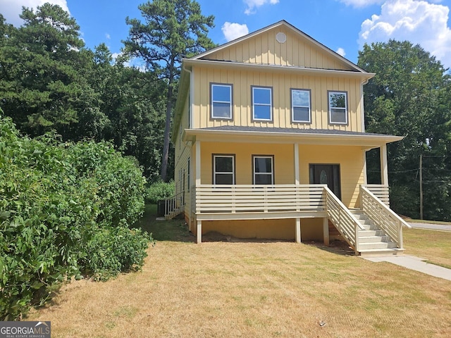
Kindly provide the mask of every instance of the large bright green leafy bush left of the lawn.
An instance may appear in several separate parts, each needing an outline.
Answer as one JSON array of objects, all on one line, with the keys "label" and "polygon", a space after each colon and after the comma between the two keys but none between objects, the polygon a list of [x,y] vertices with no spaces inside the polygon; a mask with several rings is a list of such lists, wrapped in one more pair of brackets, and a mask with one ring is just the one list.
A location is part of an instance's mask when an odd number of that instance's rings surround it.
[{"label": "large bright green leafy bush left of the lawn", "polygon": [[140,268],[150,236],[128,225],[144,211],[144,182],[110,144],[21,137],[0,115],[0,320],[80,272]]}]

